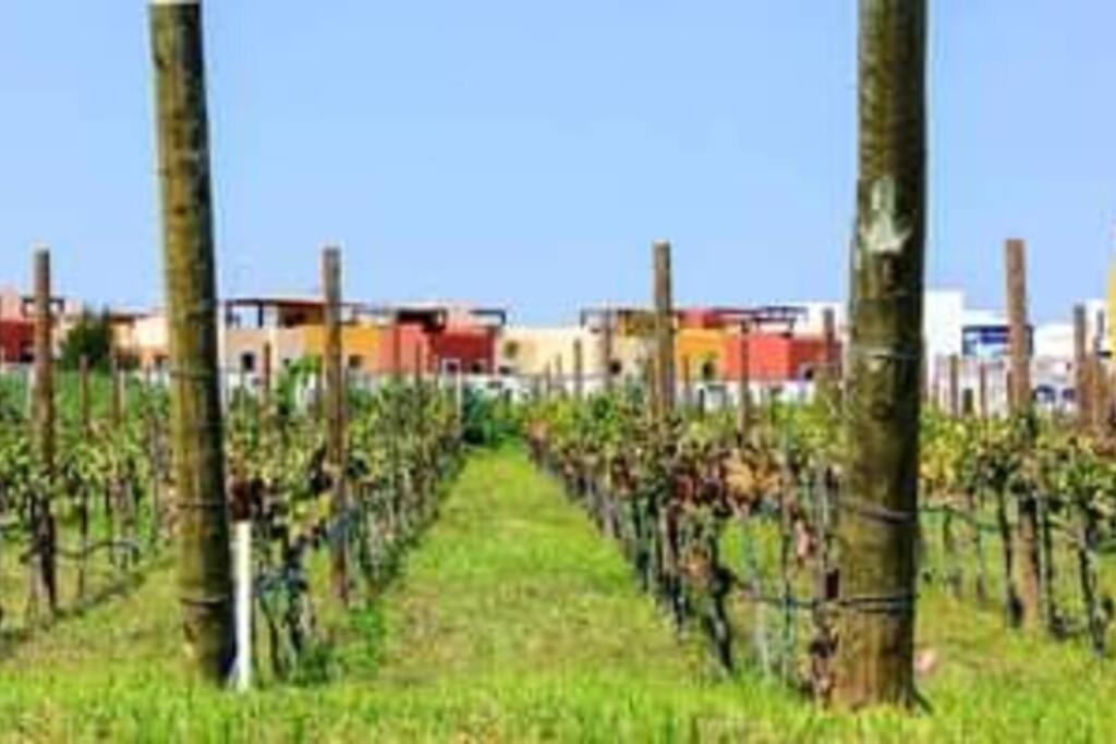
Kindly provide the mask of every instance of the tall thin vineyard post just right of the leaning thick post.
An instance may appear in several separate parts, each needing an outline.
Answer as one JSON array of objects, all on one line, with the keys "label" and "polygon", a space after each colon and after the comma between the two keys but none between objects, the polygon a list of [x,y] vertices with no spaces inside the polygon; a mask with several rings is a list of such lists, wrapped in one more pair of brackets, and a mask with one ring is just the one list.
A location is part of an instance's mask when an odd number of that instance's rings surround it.
[{"label": "tall thin vineyard post just right of the leaning thick post", "polygon": [[[328,247],[321,251],[321,286],[325,291],[326,344],[323,367],[326,383],[326,437],[329,475],[333,480],[330,513],[345,521],[348,494],[345,489],[345,378],[341,371],[341,252]],[[330,545],[330,580],[334,595],[344,605],[349,601],[347,530],[338,530]]]}]

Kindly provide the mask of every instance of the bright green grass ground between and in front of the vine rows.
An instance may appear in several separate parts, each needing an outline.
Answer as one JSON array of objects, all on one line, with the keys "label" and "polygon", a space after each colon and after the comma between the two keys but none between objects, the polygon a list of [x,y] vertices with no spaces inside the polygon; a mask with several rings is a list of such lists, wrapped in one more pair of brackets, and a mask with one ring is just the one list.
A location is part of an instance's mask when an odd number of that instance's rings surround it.
[{"label": "bright green grass ground between and in front of the vine rows", "polygon": [[398,580],[325,615],[328,674],[246,696],[177,665],[164,567],[118,600],[11,645],[0,741],[1116,741],[1116,671],[931,593],[933,714],[819,712],[724,678],[641,595],[614,545],[516,451],[475,456]]}]

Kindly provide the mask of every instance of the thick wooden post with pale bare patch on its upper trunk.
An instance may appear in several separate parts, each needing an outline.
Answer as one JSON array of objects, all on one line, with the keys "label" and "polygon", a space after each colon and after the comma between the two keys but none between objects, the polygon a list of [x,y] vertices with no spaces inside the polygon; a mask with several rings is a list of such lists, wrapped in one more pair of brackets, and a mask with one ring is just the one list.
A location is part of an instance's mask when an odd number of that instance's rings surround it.
[{"label": "thick wooden post with pale bare patch on its upper trunk", "polygon": [[926,212],[925,0],[860,0],[859,178],[833,698],[914,699]]}]

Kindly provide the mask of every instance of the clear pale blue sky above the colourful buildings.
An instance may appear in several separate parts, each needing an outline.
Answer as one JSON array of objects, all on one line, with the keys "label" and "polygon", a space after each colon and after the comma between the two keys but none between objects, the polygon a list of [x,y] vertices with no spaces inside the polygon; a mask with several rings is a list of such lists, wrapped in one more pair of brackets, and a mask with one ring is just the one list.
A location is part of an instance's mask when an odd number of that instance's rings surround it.
[{"label": "clear pale blue sky above the colourful buildings", "polygon": [[[1099,296],[1116,224],[1116,3],[935,0],[930,282],[1043,319]],[[841,298],[855,0],[206,2],[225,292],[346,291],[571,318]],[[0,2],[0,283],[158,302],[144,0]]]}]

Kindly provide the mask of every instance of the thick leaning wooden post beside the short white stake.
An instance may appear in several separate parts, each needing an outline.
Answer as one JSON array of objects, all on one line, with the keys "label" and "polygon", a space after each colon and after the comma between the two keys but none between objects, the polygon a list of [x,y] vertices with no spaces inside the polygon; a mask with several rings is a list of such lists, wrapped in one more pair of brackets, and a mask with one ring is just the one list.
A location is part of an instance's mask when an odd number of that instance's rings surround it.
[{"label": "thick leaning wooden post beside the short white stake", "polygon": [[186,656],[214,683],[235,656],[218,378],[209,124],[200,0],[152,0],[171,346],[179,592]]}]

